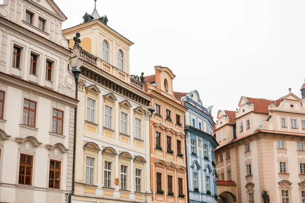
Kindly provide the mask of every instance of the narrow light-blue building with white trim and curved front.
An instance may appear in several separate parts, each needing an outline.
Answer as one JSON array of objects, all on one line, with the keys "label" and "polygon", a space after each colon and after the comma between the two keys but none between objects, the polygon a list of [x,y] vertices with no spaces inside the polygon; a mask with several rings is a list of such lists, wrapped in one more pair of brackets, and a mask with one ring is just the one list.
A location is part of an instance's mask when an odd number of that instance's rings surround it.
[{"label": "narrow light-blue building with white trim and curved front", "polygon": [[215,152],[211,108],[203,107],[197,90],[177,92],[188,111],[185,114],[188,185],[191,203],[217,202]]}]

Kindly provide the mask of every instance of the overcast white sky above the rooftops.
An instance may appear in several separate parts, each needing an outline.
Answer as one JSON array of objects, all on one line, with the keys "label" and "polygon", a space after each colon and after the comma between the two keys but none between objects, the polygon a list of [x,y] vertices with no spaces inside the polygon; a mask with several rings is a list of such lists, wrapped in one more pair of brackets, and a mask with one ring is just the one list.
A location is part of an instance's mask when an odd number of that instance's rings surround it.
[{"label": "overcast white sky above the rooftops", "polygon": [[[63,28],[92,13],[94,0],[54,0]],[[203,105],[235,110],[241,95],[300,97],[305,79],[305,1],[97,0],[108,25],[135,44],[131,74],[169,67],[174,91],[199,91]]]}]

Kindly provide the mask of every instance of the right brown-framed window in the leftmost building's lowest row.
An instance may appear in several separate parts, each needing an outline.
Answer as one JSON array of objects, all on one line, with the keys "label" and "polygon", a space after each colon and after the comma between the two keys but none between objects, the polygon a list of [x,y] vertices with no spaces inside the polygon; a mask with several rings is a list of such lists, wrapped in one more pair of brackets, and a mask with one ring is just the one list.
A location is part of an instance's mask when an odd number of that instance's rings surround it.
[{"label": "right brown-framed window in the leftmost building's lowest row", "polygon": [[60,189],[61,161],[50,160],[49,188]]}]

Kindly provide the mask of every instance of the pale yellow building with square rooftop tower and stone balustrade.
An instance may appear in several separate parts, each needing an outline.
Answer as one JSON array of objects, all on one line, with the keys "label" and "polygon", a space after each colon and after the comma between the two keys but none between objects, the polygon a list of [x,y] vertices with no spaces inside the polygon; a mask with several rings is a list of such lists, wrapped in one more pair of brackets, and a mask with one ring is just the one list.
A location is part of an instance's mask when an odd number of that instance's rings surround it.
[{"label": "pale yellow building with square rooftop tower and stone balustrade", "polygon": [[70,62],[80,71],[72,202],[151,202],[151,97],[129,75],[133,43],[96,9],[83,18],[63,31],[74,51]]}]

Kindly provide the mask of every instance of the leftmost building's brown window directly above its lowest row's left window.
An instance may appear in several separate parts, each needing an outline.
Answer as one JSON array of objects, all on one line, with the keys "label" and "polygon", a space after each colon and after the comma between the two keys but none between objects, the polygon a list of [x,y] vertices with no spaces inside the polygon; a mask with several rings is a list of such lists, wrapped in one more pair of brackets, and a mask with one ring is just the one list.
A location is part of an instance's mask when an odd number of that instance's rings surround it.
[{"label": "leftmost building's brown window directly above its lowest row's left window", "polygon": [[22,124],[35,127],[36,123],[36,102],[24,99]]}]

